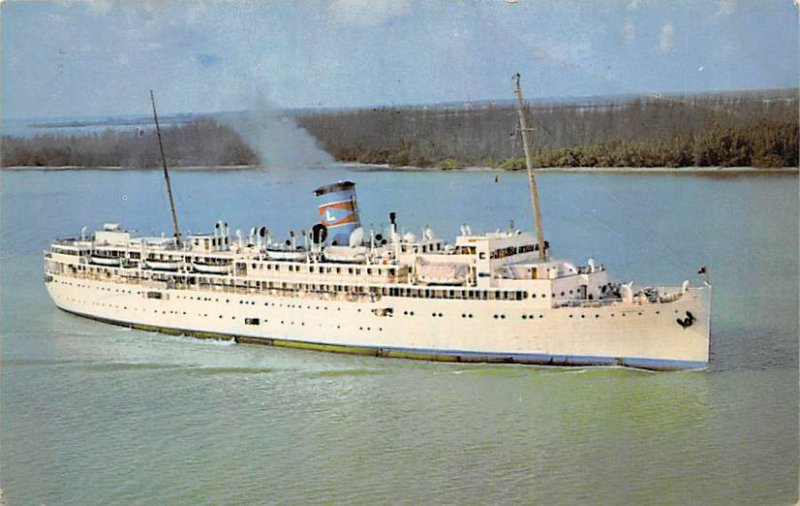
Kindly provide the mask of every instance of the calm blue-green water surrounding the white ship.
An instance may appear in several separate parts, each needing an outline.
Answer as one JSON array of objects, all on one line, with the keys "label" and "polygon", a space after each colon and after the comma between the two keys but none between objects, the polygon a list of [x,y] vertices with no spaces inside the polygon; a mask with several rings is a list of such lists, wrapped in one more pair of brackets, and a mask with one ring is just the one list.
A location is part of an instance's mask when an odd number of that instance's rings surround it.
[{"label": "calm blue-green water surrounding the white ship", "polygon": [[[796,176],[541,177],[557,255],[715,285],[708,372],[413,362],[198,341],[69,316],[41,251],[104,221],[168,231],[157,172],[3,172],[0,479],[17,504],[788,504],[798,485]],[[452,238],[530,228],[523,174],[173,175],[182,226],[315,218]]]}]

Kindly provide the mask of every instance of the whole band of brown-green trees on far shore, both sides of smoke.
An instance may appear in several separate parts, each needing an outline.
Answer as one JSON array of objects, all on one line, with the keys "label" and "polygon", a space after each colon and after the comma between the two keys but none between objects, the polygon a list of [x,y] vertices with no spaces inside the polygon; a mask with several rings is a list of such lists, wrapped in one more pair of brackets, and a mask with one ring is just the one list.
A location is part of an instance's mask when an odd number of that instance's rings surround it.
[{"label": "whole band of brown-green trees on far shore, both sides of smoke", "polygon": [[[798,166],[796,90],[527,105],[539,167]],[[524,167],[511,102],[293,114],[338,161],[458,169]],[[258,163],[223,120],[162,130],[170,166]],[[150,130],[4,136],[3,166],[160,164]]]}]

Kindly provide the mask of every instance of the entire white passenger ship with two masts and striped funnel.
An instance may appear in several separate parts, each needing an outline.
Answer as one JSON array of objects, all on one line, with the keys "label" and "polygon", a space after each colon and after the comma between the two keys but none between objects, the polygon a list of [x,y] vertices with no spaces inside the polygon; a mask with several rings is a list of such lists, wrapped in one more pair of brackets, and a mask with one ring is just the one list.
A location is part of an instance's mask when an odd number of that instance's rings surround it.
[{"label": "entire white passenger ship with two masts and striped funnel", "polygon": [[[449,362],[706,369],[711,293],[614,281],[603,264],[553,257],[544,240],[523,137],[536,233],[509,226],[451,242],[417,235],[389,213],[361,225],[356,184],[316,188],[318,222],[284,240],[266,226],[140,236],[118,223],[57,239],[44,252],[47,291],[73,315],[135,329],[337,353]],[[151,96],[152,99],[152,96]],[[153,100],[158,131],[158,117]],[[163,145],[159,145],[162,150]]]}]

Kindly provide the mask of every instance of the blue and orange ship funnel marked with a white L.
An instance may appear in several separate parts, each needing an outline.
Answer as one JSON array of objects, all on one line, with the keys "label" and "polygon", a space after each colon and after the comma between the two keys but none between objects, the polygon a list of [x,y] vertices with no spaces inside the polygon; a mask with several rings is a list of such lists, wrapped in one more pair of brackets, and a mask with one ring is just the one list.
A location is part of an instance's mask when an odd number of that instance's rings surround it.
[{"label": "blue and orange ship funnel marked with a white L", "polygon": [[328,228],[331,244],[349,244],[350,234],[361,226],[355,183],[339,181],[321,186],[314,190],[314,195],[321,198],[319,221]]}]

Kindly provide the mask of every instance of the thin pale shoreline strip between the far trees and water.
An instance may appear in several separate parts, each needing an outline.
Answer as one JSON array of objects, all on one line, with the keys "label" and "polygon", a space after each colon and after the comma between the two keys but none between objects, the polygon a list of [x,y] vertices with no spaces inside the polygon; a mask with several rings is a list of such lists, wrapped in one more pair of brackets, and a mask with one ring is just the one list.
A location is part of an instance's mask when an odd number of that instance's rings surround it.
[{"label": "thin pale shoreline strip between the far trees and water", "polygon": [[[366,164],[357,162],[335,162],[335,165],[361,172],[487,172],[515,173],[523,170],[503,170],[496,167],[468,166],[463,169],[442,169],[439,167],[390,166],[386,164]],[[161,167],[123,167],[123,166],[11,166],[0,167],[0,171],[160,171]],[[243,171],[266,170],[260,165],[191,165],[170,167],[171,171]],[[278,169],[286,170],[286,169]],[[798,167],[547,167],[536,169],[539,174],[800,174]]]}]

